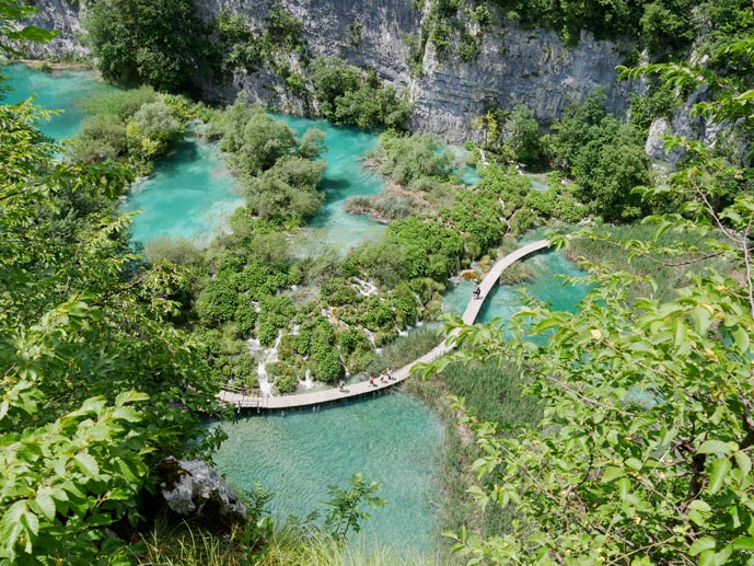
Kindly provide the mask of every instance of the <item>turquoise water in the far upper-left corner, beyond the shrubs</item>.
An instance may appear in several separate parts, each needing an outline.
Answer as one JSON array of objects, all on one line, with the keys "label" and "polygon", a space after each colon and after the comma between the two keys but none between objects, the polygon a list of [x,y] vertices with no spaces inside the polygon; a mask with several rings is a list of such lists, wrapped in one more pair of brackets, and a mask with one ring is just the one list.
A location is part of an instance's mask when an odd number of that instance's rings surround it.
[{"label": "turquoise water in the far upper-left corner, beyond the shrubs", "polygon": [[84,115],[79,102],[93,94],[113,90],[97,80],[92,71],[42,72],[25,65],[9,65],[2,69],[7,84],[14,90],[5,94],[4,102],[12,104],[36,94],[35,104],[45,109],[61,109],[39,129],[57,140],[70,139],[81,126]]}]

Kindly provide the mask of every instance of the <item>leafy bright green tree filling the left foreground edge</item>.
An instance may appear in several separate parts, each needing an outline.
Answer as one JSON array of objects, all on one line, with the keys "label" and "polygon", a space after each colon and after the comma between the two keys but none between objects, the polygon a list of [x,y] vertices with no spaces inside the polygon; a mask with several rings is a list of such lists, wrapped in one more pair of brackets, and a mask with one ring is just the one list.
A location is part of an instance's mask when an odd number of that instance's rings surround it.
[{"label": "leafy bright green tree filling the left foreground edge", "polygon": [[0,561],[118,561],[108,529],[138,523],[156,460],[206,446],[214,390],[165,322],[183,273],[128,249],[130,175],[60,163],[42,118],[0,106]]}]

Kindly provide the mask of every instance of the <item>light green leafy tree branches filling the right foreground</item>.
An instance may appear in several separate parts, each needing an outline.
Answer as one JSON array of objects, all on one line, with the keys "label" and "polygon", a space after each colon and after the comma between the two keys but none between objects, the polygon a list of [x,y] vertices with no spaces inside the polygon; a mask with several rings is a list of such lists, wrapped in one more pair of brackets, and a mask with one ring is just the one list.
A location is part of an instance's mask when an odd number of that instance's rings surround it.
[{"label": "light green leafy tree branches filling the right foreground", "polygon": [[[718,99],[716,117],[738,112],[736,99]],[[662,246],[665,257],[720,255],[736,262],[739,272],[710,268],[688,277],[676,298],[660,302],[650,293],[629,302],[637,276],[593,265],[587,277],[592,290],[576,313],[530,300],[510,332],[461,330],[454,340],[469,346],[467,356],[515,362],[544,407],[536,427],[504,439],[494,424],[462,419],[483,450],[473,493],[483,506],[518,515],[509,532],[487,539],[449,533],[454,550],[469,559],[751,562],[754,198],[743,193],[716,207],[718,187],[709,184],[751,172],[699,143],[674,142],[685,146],[688,162],[668,185],[645,193],[680,193],[684,204],[647,222],[658,235],[678,231],[706,240],[693,250],[681,241]],[[636,241],[624,246],[629,257],[658,249]]]}]

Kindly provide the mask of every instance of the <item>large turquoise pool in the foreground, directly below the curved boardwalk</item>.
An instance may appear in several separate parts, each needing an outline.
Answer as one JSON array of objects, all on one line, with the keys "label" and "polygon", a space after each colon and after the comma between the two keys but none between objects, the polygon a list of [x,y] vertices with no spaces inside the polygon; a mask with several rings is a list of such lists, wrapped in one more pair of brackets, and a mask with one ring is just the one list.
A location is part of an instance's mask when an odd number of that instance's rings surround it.
[{"label": "large turquoise pool in the foreground, directly below the curved boardwalk", "polygon": [[233,486],[248,489],[259,481],[275,492],[270,510],[277,519],[322,509],[328,485],[346,487],[362,472],[383,483],[380,496],[388,504],[370,510],[360,536],[392,544],[402,555],[430,553],[436,545],[443,427],[420,401],[380,394],[221,426],[229,439],[216,455],[219,469]]}]

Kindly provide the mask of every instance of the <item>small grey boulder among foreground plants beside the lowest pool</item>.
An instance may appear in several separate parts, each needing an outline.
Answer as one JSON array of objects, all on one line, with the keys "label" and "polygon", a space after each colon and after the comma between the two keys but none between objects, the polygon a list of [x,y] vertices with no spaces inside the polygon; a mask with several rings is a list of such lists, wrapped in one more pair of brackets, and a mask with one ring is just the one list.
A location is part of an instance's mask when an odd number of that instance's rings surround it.
[{"label": "small grey boulder among foreground plants beside the lowest pool", "polygon": [[162,496],[181,516],[199,516],[217,525],[247,519],[246,507],[206,462],[169,457],[160,463],[160,477]]}]

